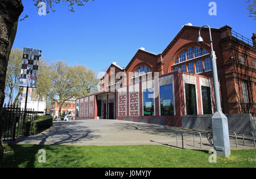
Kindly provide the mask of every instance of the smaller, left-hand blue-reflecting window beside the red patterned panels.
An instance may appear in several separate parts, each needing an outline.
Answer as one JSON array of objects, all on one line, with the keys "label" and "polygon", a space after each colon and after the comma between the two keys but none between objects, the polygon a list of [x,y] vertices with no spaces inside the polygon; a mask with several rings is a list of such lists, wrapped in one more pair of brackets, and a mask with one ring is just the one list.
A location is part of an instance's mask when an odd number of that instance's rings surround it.
[{"label": "smaller, left-hand blue-reflecting window beside the red patterned panels", "polygon": [[143,91],[144,116],[154,116],[154,89],[149,88]]}]

